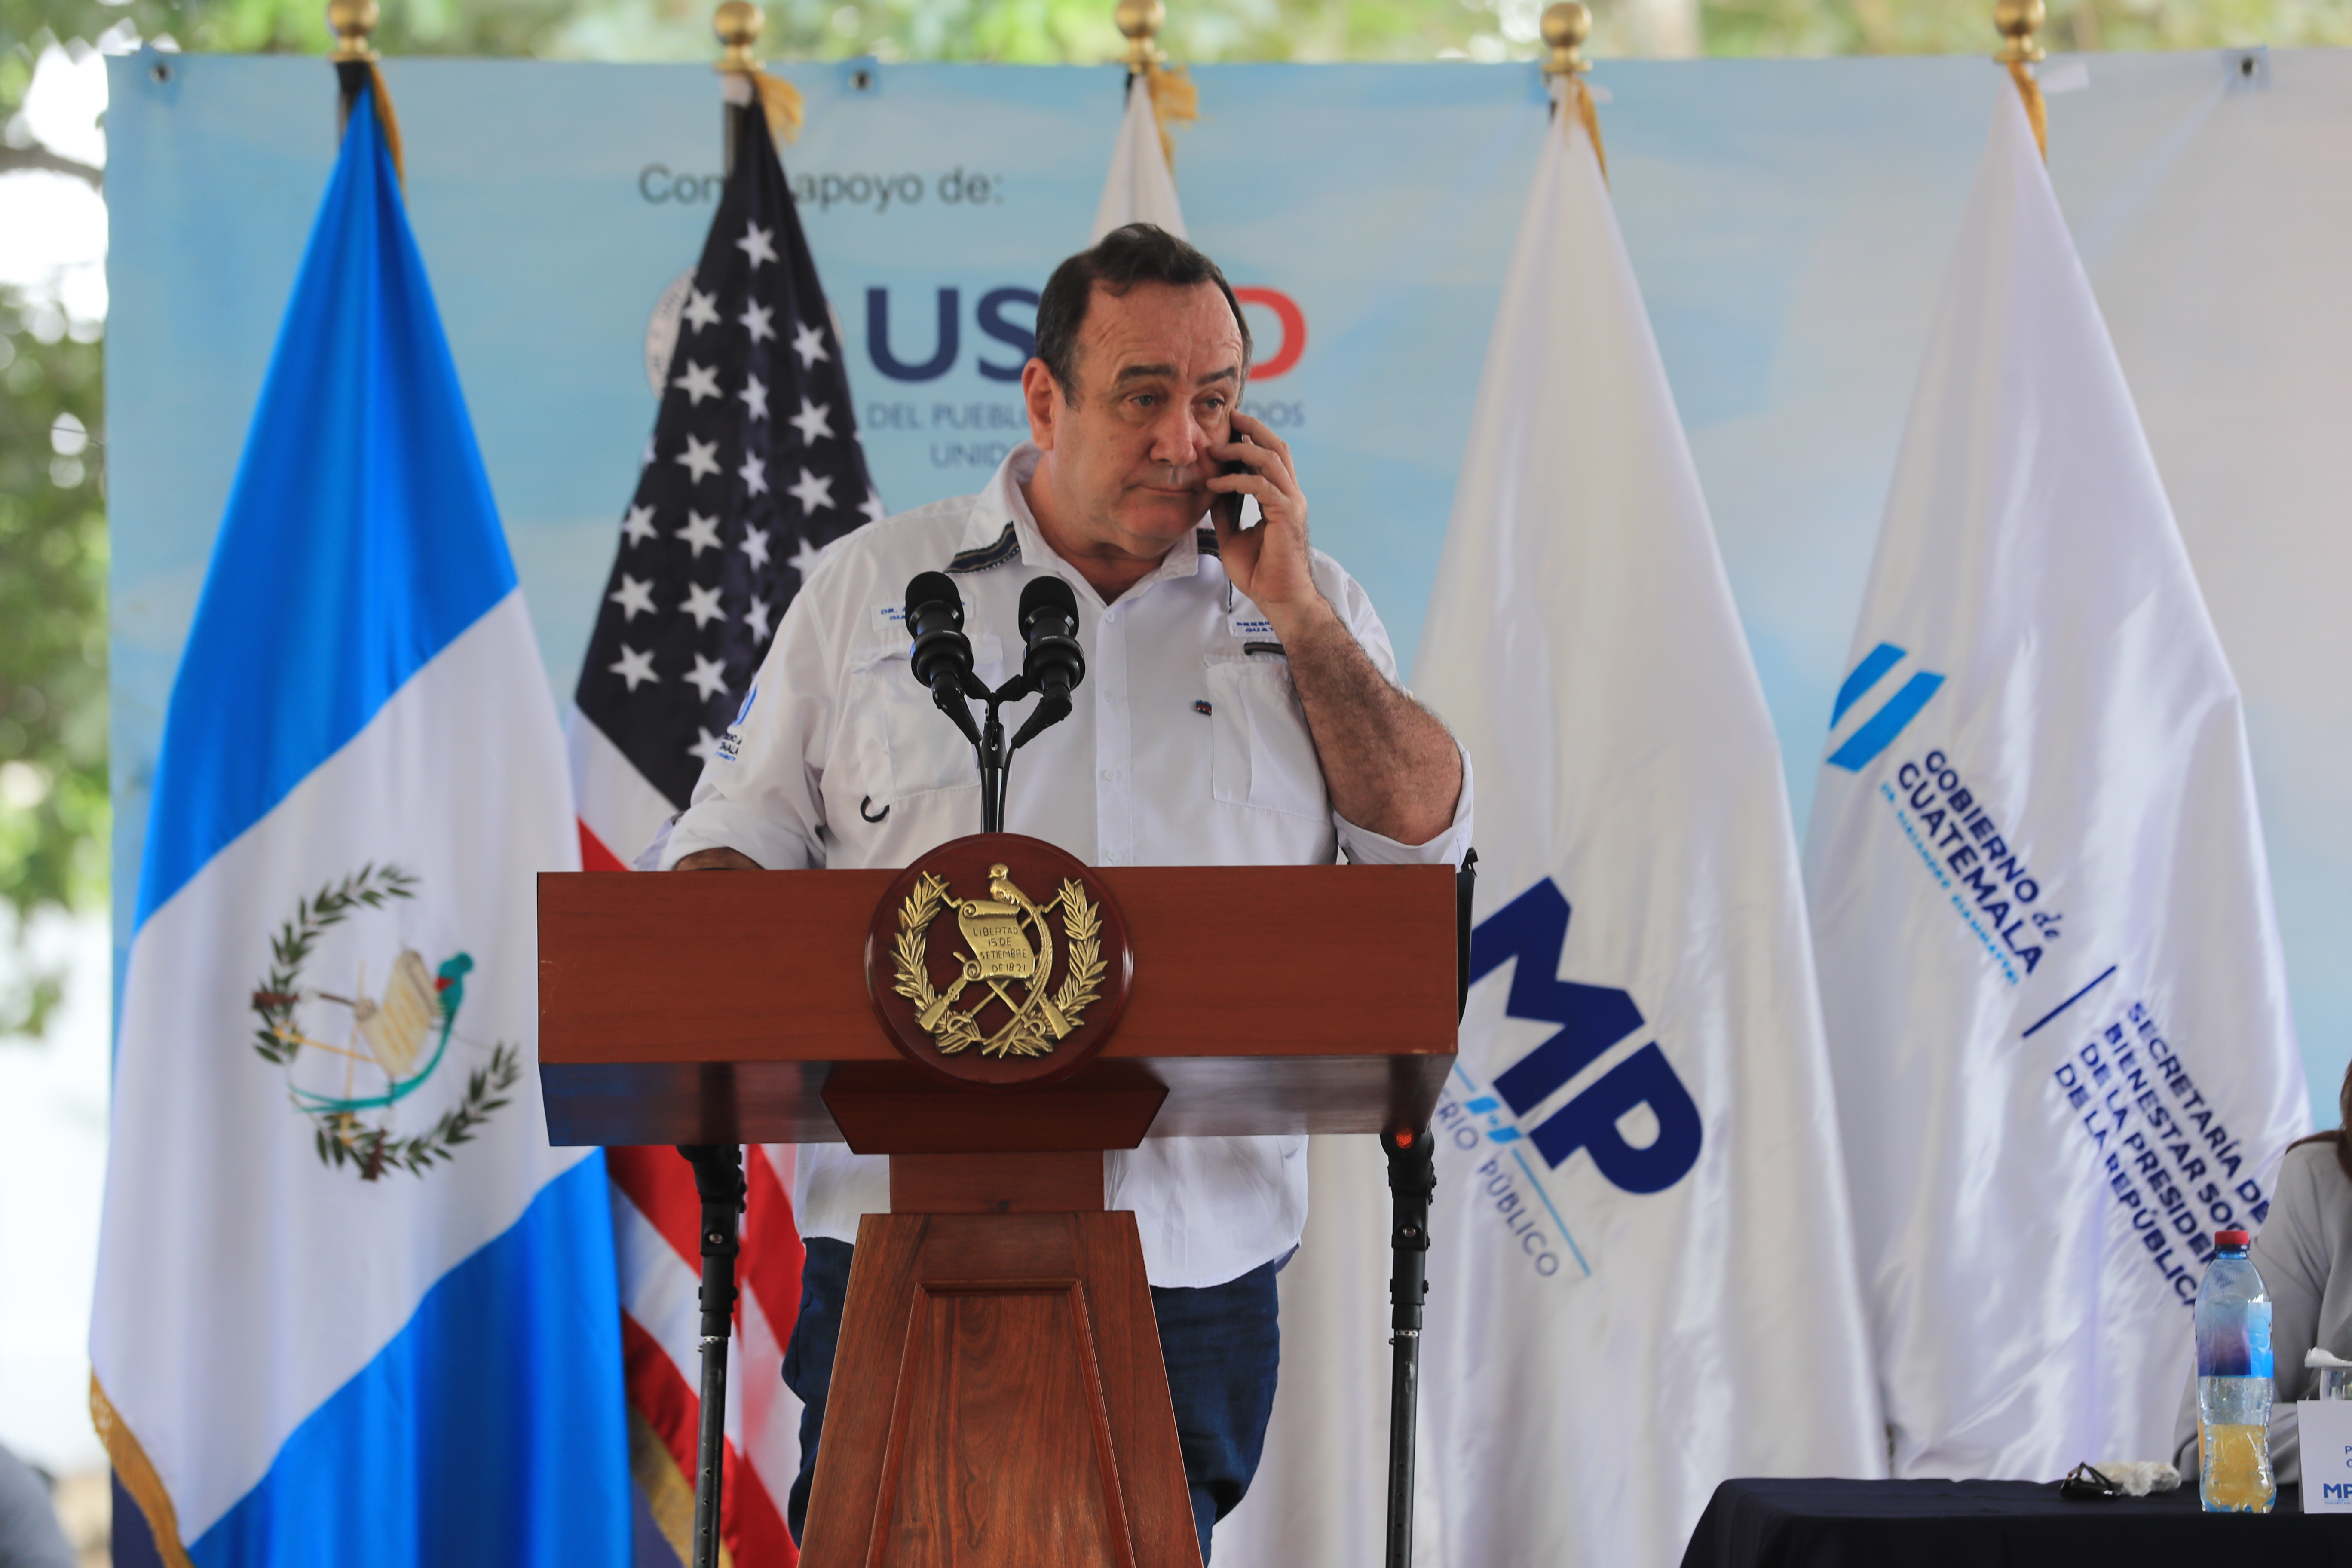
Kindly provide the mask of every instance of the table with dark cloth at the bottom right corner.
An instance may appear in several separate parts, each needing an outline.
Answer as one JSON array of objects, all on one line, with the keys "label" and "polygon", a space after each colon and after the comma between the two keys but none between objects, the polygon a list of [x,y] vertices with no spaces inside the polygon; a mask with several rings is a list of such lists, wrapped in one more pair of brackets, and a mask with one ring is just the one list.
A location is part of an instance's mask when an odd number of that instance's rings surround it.
[{"label": "table with dark cloth at the bottom right corner", "polygon": [[1724,1481],[1682,1568],[2223,1568],[2345,1563],[2352,1514],[2206,1514],[2197,1483],[2070,1502],[2034,1481]]}]

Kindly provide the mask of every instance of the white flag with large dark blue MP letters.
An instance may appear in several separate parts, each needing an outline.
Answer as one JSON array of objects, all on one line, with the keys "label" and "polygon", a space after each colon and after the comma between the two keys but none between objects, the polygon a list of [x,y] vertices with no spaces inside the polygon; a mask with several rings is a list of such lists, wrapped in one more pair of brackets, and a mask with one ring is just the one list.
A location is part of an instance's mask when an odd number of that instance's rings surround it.
[{"label": "white flag with large dark blue MP letters", "polygon": [[1729,1476],[1884,1474],[1780,752],[1578,92],[1416,670],[1479,780],[1423,1340],[1444,1568],[1670,1563]]}]

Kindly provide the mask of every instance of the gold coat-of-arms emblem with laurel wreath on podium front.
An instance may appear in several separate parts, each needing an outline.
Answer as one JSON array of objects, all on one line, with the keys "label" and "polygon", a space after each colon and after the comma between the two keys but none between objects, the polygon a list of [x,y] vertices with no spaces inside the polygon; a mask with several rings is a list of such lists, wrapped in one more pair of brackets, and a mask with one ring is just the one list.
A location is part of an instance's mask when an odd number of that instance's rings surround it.
[{"label": "gold coat-of-arms emblem with laurel wreath on podium front", "polygon": [[[993,886],[1014,889],[1004,879],[1004,867],[990,867]],[[1042,917],[1054,905],[1061,905],[1061,936],[1068,950],[1063,964],[1061,987],[1047,994],[1047,980],[1054,966],[1054,938],[1042,926]],[[1103,994],[1103,910],[1087,898],[1087,889],[1075,879],[1065,879],[1061,891],[1054,893],[1042,907],[1030,905],[1021,898],[1018,907],[1037,917],[1037,936],[1044,938],[1044,952],[1037,954],[1035,976],[1028,980],[1028,997],[1014,1001],[995,978],[976,961],[964,961],[964,973],[948,992],[931,985],[929,943],[931,922],[938,919],[941,910],[957,907],[955,893],[948,889],[948,879],[936,872],[922,872],[915,877],[915,891],[906,896],[898,905],[898,940],[894,943],[891,957],[898,966],[898,983],[891,987],[901,997],[915,1004],[915,1020],[938,1046],[941,1056],[957,1056],[974,1046],[981,1056],[1047,1056],[1054,1044],[1063,1039],[1073,1027],[1084,1020],[1087,1009]],[[964,905],[967,910],[978,910],[983,905]],[[978,1004],[969,1009],[953,1006],[964,987],[974,980],[985,980],[990,994],[1011,1009],[1011,1023],[1000,1027],[995,1034],[983,1034],[978,1025],[978,1011],[988,1004],[981,997]]]}]

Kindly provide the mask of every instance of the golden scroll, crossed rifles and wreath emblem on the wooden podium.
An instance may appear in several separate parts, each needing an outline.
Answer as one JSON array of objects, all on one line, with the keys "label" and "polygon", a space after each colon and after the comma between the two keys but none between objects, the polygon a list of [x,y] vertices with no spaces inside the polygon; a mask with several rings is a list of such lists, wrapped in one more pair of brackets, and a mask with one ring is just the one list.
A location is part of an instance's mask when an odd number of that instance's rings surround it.
[{"label": "golden scroll, crossed rifles and wreath emblem on the wooden podium", "polygon": [[[955,924],[969,952],[948,990],[934,990],[929,926],[946,907],[955,907]],[[1047,914],[1056,907],[1065,961],[1061,985],[1049,990],[1054,926],[1047,924]],[[1030,931],[1037,933],[1035,943]],[[971,1046],[978,1046],[981,1056],[1044,1056],[1084,1023],[1087,1006],[1101,994],[1101,907],[1075,879],[1065,879],[1054,898],[1037,905],[1014,884],[1011,867],[1002,860],[988,867],[988,898],[955,898],[946,877],[924,872],[898,907],[894,990],[915,1004],[915,1023],[941,1056]],[[1018,1001],[1004,980],[1021,983]],[[1011,1020],[995,1034],[983,1034],[978,1023],[988,997],[969,1009],[955,1006],[974,983],[985,985],[1011,1011]]]}]

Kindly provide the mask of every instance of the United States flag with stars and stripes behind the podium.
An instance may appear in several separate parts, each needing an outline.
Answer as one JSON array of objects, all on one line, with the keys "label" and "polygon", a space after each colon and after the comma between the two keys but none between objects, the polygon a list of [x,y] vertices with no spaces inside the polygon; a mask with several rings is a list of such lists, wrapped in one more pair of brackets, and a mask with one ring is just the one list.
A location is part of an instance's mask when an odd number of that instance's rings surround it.
[{"label": "United States flag with stars and stripes behind the podium", "polygon": [[[661,414],[621,520],[569,724],[581,860],[623,870],[682,811],[816,552],[882,515],[866,477],[833,313],[767,118],[734,118],[736,162],[694,268]],[[800,1403],[779,1378],[800,1309],[793,1150],[750,1147],[727,1410],[722,1540],[795,1561],[783,1500]],[[691,1533],[696,1197],[673,1150],[612,1150],[637,1483],[680,1559]]]}]

